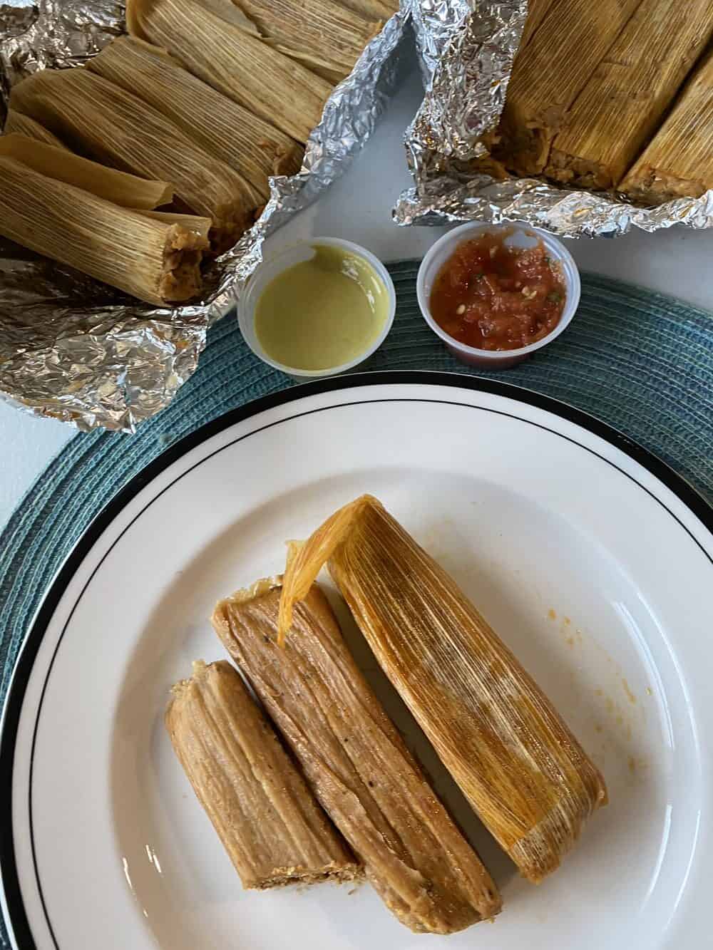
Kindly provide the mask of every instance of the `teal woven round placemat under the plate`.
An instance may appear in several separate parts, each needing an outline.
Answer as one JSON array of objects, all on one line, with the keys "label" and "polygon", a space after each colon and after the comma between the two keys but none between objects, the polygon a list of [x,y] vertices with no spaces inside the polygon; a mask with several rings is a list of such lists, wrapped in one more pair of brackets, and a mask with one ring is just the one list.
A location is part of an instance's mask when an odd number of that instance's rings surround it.
[{"label": "teal woven round placemat under the plate", "polygon": [[[416,267],[390,267],[394,330],[364,369],[467,372],[561,399],[626,432],[713,500],[713,314],[588,275],[580,309],[555,343],[512,370],[471,371],[421,318]],[[109,499],[177,439],[287,385],[247,349],[228,317],[211,331],[199,371],[136,435],[77,435],[60,452],[0,535],[1,698],[50,580]],[[10,946],[4,932],[0,946]]]}]

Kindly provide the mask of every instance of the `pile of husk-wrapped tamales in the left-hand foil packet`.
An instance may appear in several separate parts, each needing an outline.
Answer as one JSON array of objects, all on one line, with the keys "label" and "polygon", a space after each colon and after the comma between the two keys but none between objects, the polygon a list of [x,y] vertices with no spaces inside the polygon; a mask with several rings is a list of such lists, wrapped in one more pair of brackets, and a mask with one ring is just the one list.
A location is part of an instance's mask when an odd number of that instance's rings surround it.
[{"label": "pile of husk-wrapped tamales in the left-hand foil packet", "polygon": [[[251,226],[270,176],[299,171],[332,84],[391,12],[391,0],[129,0],[129,36],[11,90],[6,136],[85,164],[3,152],[0,235],[148,303],[200,295],[203,253]],[[136,218],[147,209],[129,178],[163,182],[159,212]]]}]

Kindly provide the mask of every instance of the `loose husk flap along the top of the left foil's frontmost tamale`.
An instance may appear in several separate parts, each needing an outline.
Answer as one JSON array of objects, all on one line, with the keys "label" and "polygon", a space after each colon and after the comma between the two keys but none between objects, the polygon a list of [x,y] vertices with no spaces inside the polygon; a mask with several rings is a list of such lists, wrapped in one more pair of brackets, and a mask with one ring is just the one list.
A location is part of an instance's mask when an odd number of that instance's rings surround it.
[{"label": "loose husk flap along the top of the left foil's frontmost tamale", "polygon": [[0,136],[0,155],[124,208],[151,210],[170,204],[173,199],[173,188],[166,181],[149,181],[107,168],[97,161],[74,155],[66,148],[36,142],[17,133]]}]

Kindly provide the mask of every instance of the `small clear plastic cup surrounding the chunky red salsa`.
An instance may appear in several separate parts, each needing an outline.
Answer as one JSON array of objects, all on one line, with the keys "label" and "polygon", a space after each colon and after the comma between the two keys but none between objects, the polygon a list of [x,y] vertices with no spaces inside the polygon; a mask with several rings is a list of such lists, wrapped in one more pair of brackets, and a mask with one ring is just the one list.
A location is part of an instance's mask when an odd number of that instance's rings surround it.
[{"label": "small clear plastic cup surrounding the chunky red salsa", "polygon": [[[476,347],[459,343],[458,340],[454,340],[453,336],[450,336],[438,326],[431,315],[431,291],[435,277],[459,244],[471,240],[472,237],[479,234],[497,234],[501,231],[511,233],[511,237],[507,238],[505,243],[513,247],[531,247],[538,238],[542,241],[548,250],[549,256],[559,262],[560,273],[567,287],[567,299],[557,326],[547,336],[537,340],[536,343],[530,343],[530,346],[527,347],[519,347],[517,350],[478,350]],[[546,231],[540,231],[539,228],[532,228],[527,224],[488,224],[485,221],[478,221],[453,228],[453,231],[449,231],[448,234],[440,237],[435,242],[426,257],[421,261],[416,277],[418,306],[426,323],[436,336],[440,336],[448,350],[461,362],[489,370],[506,370],[516,363],[522,362],[530,356],[530,353],[546,347],[560,333],[567,330],[579,305],[580,291],[581,285],[577,265],[564,244]]]}]

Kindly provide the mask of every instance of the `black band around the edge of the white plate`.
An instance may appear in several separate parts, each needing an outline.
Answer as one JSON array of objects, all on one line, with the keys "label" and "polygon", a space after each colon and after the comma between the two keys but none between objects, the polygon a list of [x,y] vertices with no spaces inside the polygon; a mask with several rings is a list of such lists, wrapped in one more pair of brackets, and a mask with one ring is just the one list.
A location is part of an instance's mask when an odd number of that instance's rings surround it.
[{"label": "black band around the edge of the white plate", "polygon": [[[176,445],[167,448],[157,459],[149,463],[141,472],[135,475],[122,488],[118,494],[106,504],[105,508],[88,525],[87,530],[76,543],[67,560],[62,565],[55,579],[52,581],[47,594],[45,595],[37,614],[32,620],[28,636],[18,656],[15,669],[10,682],[10,689],[5,702],[2,721],[2,737],[0,738],[0,809],[6,816],[6,820],[0,828],[0,867],[2,868],[2,887],[6,907],[6,925],[10,931],[10,939],[13,939],[20,950],[35,950],[35,942],[32,938],[29,921],[25,910],[25,905],[20,889],[17,865],[15,861],[15,849],[13,841],[13,827],[11,821],[12,808],[12,767],[14,762],[15,744],[17,739],[17,729],[22,712],[22,705],[25,692],[29,682],[37,651],[42,638],[48,628],[48,623],[54,614],[54,611],[62,598],[69,581],[72,579],[78,568],[85,560],[87,554],[105,532],[108,525],[114,521],[117,515],[125,508],[136,495],[142,491],[146,485],[152,482],[168,466],[178,461],[191,449],[202,445],[208,439],[219,434],[226,428],[236,425],[251,416],[256,416],[266,409],[273,409],[288,403],[296,402],[307,396],[318,395],[323,392],[338,391],[345,389],[358,389],[367,386],[381,385],[431,385],[439,386],[444,389],[466,389],[491,393],[496,396],[503,396],[515,402],[525,403],[537,409],[544,409],[552,415],[559,416],[568,420],[580,428],[592,432],[604,441],[619,448],[629,458],[633,459],[640,466],[646,468],[660,482],[669,488],[692,513],[703,523],[703,525],[713,532],[713,508],[703,499],[703,497],[684,479],[677,475],[671,468],[665,465],[659,458],[639,446],[637,443],[628,439],[624,434],[616,429],[609,427],[606,423],[583,412],[581,409],[574,409],[566,403],[559,402],[549,396],[522,387],[513,386],[509,383],[493,382],[491,380],[479,379],[472,376],[465,376],[457,373],[433,372],[433,371],[381,371],[357,373],[351,376],[341,376],[333,379],[317,380],[311,383],[305,383],[290,390],[281,390],[278,393],[269,396],[263,396],[253,402],[247,403],[240,409],[232,409],[224,415],[215,419],[213,422],[206,423],[201,428],[196,429],[190,435],[185,436]],[[358,402],[370,402],[372,400],[364,399]],[[377,401],[381,401],[380,399]],[[394,399],[384,397],[383,401],[393,402]],[[405,401],[411,402],[411,399]],[[429,402],[454,402],[448,399],[437,400],[419,400],[414,401]],[[344,405],[344,404],[339,404]],[[461,404],[465,405],[465,404]],[[328,409],[329,407],[324,407]],[[500,410],[495,410],[500,411]],[[500,414],[509,414],[501,412]],[[519,418],[519,417],[517,417]],[[529,420],[521,420],[527,421]],[[533,425],[539,428],[547,428],[537,423]],[[557,435],[563,436],[561,432]],[[573,441],[573,440],[569,440]],[[580,445],[577,443],[577,445]],[[588,447],[584,447],[592,451]],[[593,454],[597,454],[594,452]],[[601,458],[601,456],[600,456]],[[204,461],[204,460],[202,460]],[[613,463],[607,461],[613,466]],[[617,467],[618,466],[614,466]],[[636,481],[626,471],[619,468],[622,474],[632,481]],[[646,486],[640,485],[647,494],[651,494]],[[655,498],[655,496],[652,496]],[[659,499],[655,499],[662,504]],[[708,560],[713,562],[710,555],[705,551],[698,540],[688,531],[676,515],[669,511],[672,517],[682,525],[686,533],[696,544],[701,547]],[[137,516],[138,517],[138,516]],[[39,882],[38,882],[39,883]],[[46,912],[47,917],[47,912]],[[48,927],[51,932],[51,924]],[[55,946],[58,944],[55,942]],[[63,948],[64,950],[64,948]]]}]

